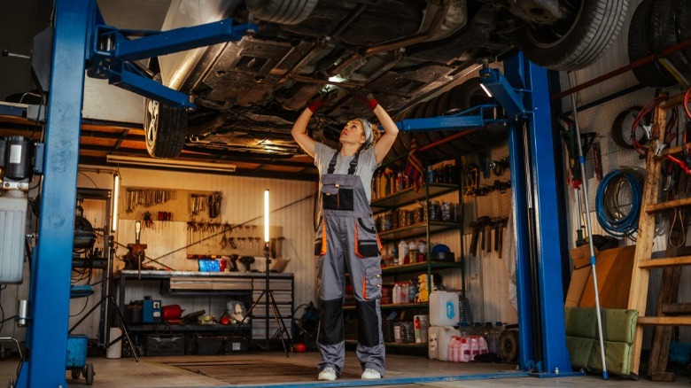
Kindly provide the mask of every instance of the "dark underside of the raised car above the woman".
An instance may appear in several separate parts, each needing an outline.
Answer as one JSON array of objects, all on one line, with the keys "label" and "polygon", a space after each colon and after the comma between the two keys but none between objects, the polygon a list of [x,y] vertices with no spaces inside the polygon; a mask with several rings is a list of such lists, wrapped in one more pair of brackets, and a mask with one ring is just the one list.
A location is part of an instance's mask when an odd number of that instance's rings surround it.
[{"label": "dark underside of the raised car above the woman", "polygon": [[[314,138],[327,144],[336,144],[347,120],[371,118],[355,91],[373,94],[394,120],[467,109],[489,99],[477,79],[462,83],[482,60],[501,60],[520,48],[547,68],[587,66],[621,29],[626,4],[627,0],[174,1],[169,26],[177,27],[175,20],[179,25],[181,15],[206,12],[211,15],[206,21],[251,21],[259,31],[237,42],[152,61],[152,72],[160,73],[167,86],[193,96],[198,109],[182,113],[148,101],[147,148],[152,156],[164,158],[175,157],[182,147],[230,156],[291,158],[301,152],[291,138],[291,125],[309,102],[321,98],[328,103],[310,123]],[[602,17],[593,21],[593,15]],[[588,39],[587,28],[606,30],[607,36]],[[444,136],[426,134],[417,141],[423,145]],[[494,128],[457,140],[441,155],[477,151],[502,136],[501,128]],[[407,152],[410,141],[407,134],[400,136],[392,158]]]}]

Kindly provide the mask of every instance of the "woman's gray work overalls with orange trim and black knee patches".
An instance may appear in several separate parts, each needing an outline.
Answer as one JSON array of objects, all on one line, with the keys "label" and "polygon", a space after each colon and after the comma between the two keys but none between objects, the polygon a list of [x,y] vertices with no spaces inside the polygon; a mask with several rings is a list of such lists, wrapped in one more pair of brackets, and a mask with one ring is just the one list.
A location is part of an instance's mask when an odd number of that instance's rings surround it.
[{"label": "woman's gray work overalls with orange trim and black knee patches", "polygon": [[384,340],[379,306],[382,297],[381,244],[361,177],[354,175],[358,155],[348,174],[334,174],[338,151],[322,175],[321,223],[314,241],[319,292],[319,369],[340,376],[346,356],[343,302],[346,272],[350,274],[357,313],[357,356],[362,369],[384,376]]}]

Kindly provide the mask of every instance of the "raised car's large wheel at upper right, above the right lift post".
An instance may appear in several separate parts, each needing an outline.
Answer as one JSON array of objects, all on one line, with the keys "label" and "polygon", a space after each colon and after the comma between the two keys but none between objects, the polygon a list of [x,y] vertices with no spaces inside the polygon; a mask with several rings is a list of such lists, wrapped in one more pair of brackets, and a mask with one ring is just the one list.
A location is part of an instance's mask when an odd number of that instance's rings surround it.
[{"label": "raised car's large wheel at upper right, above the right lift post", "polygon": [[526,25],[519,32],[518,46],[532,62],[561,71],[586,67],[609,49],[624,26],[628,0],[576,0],[572,4],[574,19],[536,28]]}]

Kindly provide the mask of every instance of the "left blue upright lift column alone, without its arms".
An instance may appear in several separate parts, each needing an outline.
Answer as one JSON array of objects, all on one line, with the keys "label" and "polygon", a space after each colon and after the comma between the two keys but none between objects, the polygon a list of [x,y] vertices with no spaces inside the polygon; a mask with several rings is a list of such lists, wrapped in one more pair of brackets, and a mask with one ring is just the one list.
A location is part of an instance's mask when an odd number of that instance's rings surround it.
[{"label": "left blue upright lift column alone, without its arms", "polygon": [[29,362],[22,366],[18,386],[66,386],[83,58],[95,6],[92,0],[55,2],[39,238],[29,289]]}]

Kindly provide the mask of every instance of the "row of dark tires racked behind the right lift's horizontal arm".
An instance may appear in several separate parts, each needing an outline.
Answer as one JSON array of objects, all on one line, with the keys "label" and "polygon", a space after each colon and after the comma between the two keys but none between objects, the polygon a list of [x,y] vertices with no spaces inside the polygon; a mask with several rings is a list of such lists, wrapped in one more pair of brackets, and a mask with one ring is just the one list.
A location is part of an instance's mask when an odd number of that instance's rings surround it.
[{"label": "row of dark tires racked behind the right lift's horizontal arm", "polygon": [[[476,77],[437,97],[412,106],[408,110],[396,115],[393,119],[400,121],[403,119],[443,116],[461,113],[477,105],[485,104],[493,104],[493,98],[485,94],[485,91],[480,87],[479,77]],[[490,116],[493,116],[493,113],[485,112],[485,119],[492,118]],[[408,161],[405,156],[410,151],[413,139],[415,139],[418,147],[423,147],[454,134],[456,134],[456,131],[439,130],[410,133],[401,131],[393,144],[392,152],[389,152],[387,158],[384,159],[384,163],[393,160],[391,166],[393,169],[405,168]],[[506,138],[507,131],[504,127],[478,128],[472,133],[457,137],[447,143],[439,144],[430,151],[423,153],[422,156],[430,162],[454,159],[469,153],[483,151],[495,144],[501,143]]]}]

